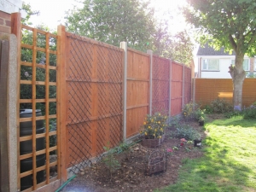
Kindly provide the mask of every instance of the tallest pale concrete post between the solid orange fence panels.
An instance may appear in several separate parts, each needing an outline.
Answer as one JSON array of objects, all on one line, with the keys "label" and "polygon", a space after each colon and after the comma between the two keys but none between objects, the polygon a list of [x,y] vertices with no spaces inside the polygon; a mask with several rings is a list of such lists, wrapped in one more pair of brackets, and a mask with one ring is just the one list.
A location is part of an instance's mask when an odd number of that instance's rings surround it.
[{"label": "tallest pale concrete post between the solid orange fence panels", "polygon": [[126,116],[127,116],[127,43],[121,42],[120,48],[124,49],[124,78],[123,78],[123,140],[126,141]]}]

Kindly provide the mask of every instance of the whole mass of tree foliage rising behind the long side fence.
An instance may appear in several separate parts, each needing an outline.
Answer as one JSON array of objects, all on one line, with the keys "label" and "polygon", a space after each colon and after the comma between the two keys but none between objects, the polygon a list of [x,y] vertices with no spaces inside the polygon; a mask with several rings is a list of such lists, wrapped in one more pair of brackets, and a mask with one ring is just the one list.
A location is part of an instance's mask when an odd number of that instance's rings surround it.
[{"label": "whole mass of tree foliage rising behind the long side fence", "polygon": [[166,20],[154,18],[154,9],[140,0],[84,0],[83,8],[67,12],[67,31],[119,46],[128,46],[189,64],[193,44],[187,32],[171,35]]}]

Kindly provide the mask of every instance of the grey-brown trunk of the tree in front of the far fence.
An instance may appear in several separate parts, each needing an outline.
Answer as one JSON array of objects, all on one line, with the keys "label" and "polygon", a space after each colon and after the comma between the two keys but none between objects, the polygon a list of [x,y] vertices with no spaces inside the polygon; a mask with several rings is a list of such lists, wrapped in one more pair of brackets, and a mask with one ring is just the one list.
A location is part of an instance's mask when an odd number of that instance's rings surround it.
[{"label": "grey-brown trunk of the tree in front of the far fence", "polygon": [[235,109],[238,110],[241,110],[242,108],[242,84],[244,79],[246,78],[246,73],[242,67],[243,57],[243,54],[236,54],[235,67],[230,66],[229,71],[231,78],[233,80],[233,106]]}]

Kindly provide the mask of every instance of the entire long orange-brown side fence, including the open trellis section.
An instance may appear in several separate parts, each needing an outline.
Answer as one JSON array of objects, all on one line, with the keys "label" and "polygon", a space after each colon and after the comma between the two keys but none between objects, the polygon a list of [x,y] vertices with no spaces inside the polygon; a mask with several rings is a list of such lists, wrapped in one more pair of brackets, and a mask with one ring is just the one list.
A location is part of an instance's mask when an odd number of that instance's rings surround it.
[{"label": "entire long orange-brown side fence, including the open trellis section", "polygon": [[[32,186],[26,191],[43,185],[56,189],[69,173],[101,160],[104,146],[136,137],[148,113],[177,115],[191,100],[191,70],[183,64],[128,49],[124,42],[118,48],[84,38],[64,26],[54,35],[19,25],[19,15],[13,20],[20,53],[18,108],[43,109],[42,116],[21,119],[17,113],[19,124],[31,121],[33,130],[18,138],[18,143],[32,142],[28,154],[20,154],[18,144],[20,163],[32,160],[26,172],[18,165],[18,189],[27,176]],[[44,132],[34,131],[38,120],[44,120]],[[38,139],[45,148],[37,149]],[[40,155],[45,165],[37,166]]]}]

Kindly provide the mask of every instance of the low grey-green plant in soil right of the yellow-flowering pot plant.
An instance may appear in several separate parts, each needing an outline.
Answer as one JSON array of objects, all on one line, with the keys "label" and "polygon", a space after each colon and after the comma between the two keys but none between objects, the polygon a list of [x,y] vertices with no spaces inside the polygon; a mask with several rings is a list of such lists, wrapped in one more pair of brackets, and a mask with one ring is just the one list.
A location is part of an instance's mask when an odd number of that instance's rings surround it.
[{"label": "low grey-green plant in soil right of the yellow-flowering pot plant", "polygon": [[181,125],[178,127],[174,133],[174,137],[177,138],[185,138],[186,140],[195,140],[200,138],[201,135],[198,131],[196,131],[193,127],[189,125]]}]

